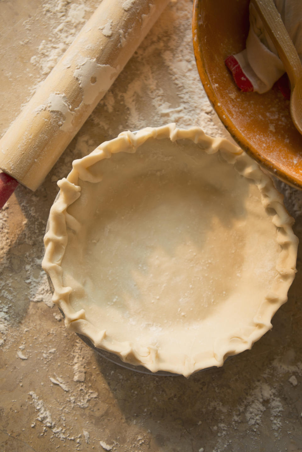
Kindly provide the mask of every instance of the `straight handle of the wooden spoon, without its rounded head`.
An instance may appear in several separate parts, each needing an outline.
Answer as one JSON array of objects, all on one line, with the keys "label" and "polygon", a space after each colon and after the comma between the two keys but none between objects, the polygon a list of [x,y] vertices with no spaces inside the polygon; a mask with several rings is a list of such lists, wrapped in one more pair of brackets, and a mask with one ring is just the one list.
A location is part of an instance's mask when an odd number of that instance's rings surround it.
[{"label": "straight handle of the wooden spoon, without its rounded head", "polygon": [[251,0],[283,62],[291,85],[302,77],[302,66],[293,41],[289,37],[273,0]]}]

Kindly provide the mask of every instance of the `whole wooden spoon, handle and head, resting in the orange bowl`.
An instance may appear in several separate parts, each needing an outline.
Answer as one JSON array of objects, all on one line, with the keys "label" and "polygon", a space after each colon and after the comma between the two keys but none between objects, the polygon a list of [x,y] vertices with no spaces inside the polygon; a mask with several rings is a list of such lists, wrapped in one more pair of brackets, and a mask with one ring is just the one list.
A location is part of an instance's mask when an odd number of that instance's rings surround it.
[{"label": "whole wooden spoon, handle and head, resting in the orange bowl", "polygon": [[290,113],[302,134],[302,65],[273,0],[251,0],[277,49],[291,84]]}]

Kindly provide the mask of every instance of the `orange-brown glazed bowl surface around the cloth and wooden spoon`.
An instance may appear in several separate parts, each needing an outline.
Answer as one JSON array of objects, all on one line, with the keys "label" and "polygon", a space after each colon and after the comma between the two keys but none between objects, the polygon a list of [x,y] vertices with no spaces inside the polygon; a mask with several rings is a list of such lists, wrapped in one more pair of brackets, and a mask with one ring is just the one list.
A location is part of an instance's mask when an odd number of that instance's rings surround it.
[{"label": "orange-brown glazed bowl surface around the cloth and wooden spoon", "polygon": [[302,188],[302,136],[289,101],[276,86],[264,94],[242,93],[225,66],[245,48],[249,0],[194,0],[193,46],[204,89],[235,141],[279,179]]}]

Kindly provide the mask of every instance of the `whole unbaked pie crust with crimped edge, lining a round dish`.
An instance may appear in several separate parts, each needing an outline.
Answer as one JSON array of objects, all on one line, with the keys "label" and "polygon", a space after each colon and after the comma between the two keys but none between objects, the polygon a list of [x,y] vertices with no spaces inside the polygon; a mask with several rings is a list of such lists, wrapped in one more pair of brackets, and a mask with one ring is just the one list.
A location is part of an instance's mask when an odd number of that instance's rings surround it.
[{"label": "whole unbaked pie crust with crimped edge, lining a round dish", "polygon": [[189,376],[272,327],[297,237],[282,195],[240,148],[198,127],[123,132],[58,186],[42,266],[68,330],[124,362]]}]

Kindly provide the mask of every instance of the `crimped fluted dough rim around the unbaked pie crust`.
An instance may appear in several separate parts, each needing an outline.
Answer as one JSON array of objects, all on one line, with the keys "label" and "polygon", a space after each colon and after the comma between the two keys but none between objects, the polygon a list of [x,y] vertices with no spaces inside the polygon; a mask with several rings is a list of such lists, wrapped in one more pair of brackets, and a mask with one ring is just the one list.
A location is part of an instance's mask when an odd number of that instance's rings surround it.
[{"label": "crimped fluted dough rim around the unbaked pie crust", "polygon": [[[277,276],[269,293],[264,298],[253,319],[253,327],[238,328],[227,337],[214,342],[212,356],[171,356],[170,362],[161,362],[160,350],[155,347],[141,347],[130,342],[118,342],[107,336],[106,330],[99,331],[85,319],[85,311],[75,311],[69,302],[71,287],[64,287],[61,261],[67,245],[67,226],[77,229],[77,221],[66,212],[68,206],[80,197],[78,180],[99,182],[101,178],[90,173],[90,166],[120,151],[135,152],[146,140],[170,138],[171,141],[189,139],[201,144],[208,154],[220,152],[223,159],[234,165],[235,170],[252,179],[260,190],[261,202],[265,208],[273,209],[272,221],[277,228],[276,241],[281,247],[276,263]],[[264,174],[259,165],[245,154],[241,148],[225,138],[207,136],[201,128],[180,129],[175,123],[162,127],[146,127],[136,133],[122,132],[117,138],[105,141],[85,157],[74,160],[73,169],[64,179],[58,181],[59,195],[49,214],[49,230],[44,236],[45,255],[42,268],[52,281],[54,293],[52,301],[64,312],[65,325],[70,331],[86,336],[96,348],[118,355],[124,362],[142,365],[151,372],[166,371],[189,377],[194,372],[212,366],[220,367],[228,356],[250,349],[272,328],[271,319],[278,308],[287,301],[287,293],[296,273],[298,239],[293,233],[293,218],[283,206],[283,196],[274,188],[272,179]]]}]

